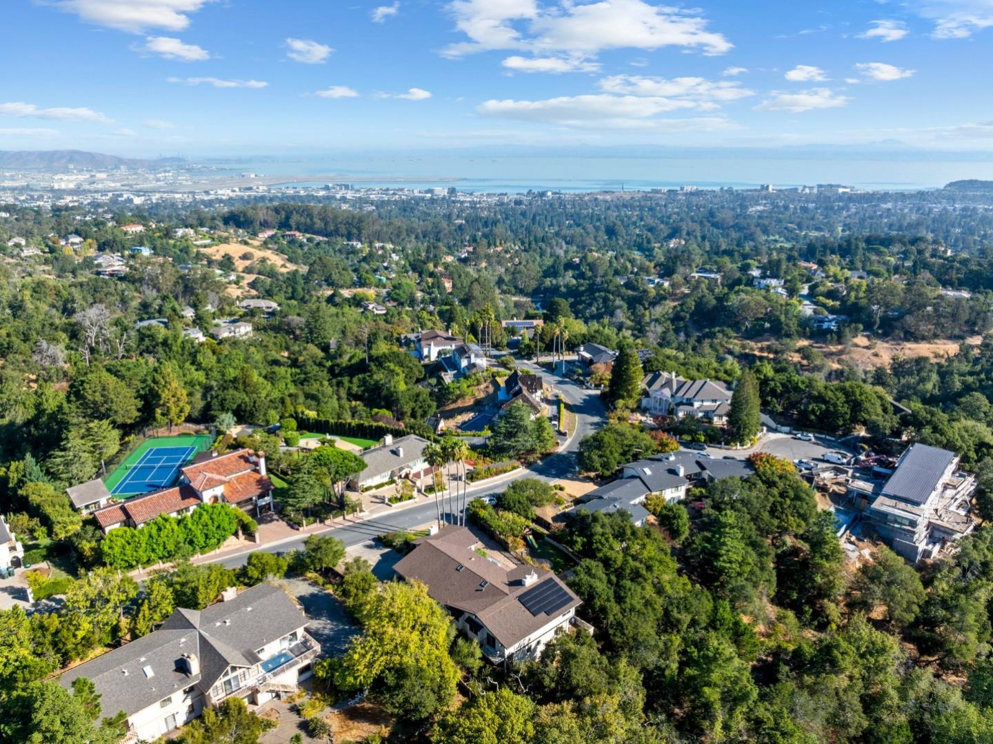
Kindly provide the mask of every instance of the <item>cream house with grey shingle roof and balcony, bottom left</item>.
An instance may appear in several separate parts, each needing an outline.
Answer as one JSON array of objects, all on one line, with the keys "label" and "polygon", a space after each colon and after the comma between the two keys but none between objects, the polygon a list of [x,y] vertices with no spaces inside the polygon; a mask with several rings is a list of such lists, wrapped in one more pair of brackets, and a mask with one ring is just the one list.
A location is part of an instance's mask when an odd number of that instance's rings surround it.
[{"label": "cream house with grey shingle roof and balcony, bottom left", "polygon": [[104,716],[123,711],[123,744],[152,741],[231,696],[250,705],[295,692],[321,647],[280,588],[233,587],[204,610],[178,609],[157,631],[63,673],[85,677]]}]

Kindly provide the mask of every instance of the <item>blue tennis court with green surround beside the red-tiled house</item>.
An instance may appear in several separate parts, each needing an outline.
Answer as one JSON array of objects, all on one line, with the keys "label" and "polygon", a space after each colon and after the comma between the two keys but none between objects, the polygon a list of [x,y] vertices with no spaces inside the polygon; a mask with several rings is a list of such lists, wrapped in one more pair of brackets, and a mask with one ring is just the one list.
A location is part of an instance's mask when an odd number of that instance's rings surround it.
[{"label": "blue tennis court with green surround beside the red-tiled house", "polygon": [[113,496],[124,497],[173,486],[180,468],[211,444],[209,435],[148,439],[110,474],[107,489]]}]

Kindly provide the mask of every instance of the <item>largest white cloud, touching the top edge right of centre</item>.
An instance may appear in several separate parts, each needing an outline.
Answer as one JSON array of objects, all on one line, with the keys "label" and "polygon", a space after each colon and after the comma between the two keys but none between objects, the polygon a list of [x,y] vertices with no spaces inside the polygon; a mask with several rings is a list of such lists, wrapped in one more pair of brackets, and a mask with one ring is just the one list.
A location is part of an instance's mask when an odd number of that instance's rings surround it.
[{"label": "largest white cloud, touching the top edge right of centre", "polygon": [[[644,0],[558,0],[554,7],[539,7],[535,0],[454,0],[449,10],[470,41],[447,47],[443,54],[448,57],[500,49],[593,56],[612,49],[662,47],[719,55],[733,46],[722,34],[707,31],[698,11]],[[525,26],[526,33],[515,24]]]}]

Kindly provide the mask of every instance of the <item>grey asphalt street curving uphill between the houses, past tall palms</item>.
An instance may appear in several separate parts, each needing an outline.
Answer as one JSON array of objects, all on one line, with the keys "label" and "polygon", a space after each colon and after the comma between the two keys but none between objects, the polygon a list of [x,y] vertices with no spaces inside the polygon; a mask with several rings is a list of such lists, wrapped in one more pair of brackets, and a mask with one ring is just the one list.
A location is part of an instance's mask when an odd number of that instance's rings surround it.
[{"label": "grey asphalt street curving uphill between the houses, past tall palms", "polygon": [[[600,428],[605,421],[606,411],[600,400],[600,392],[598,390],[588,389],[571,379],[536,368],[529,362],[521,362],[517,367],[527,372],[541,374],[544,376],[546,383],[550,383],[558,392],[562,393],[563,397],[569,402],[573,413],[575,413],[576,431],[568,439],[564,441],[560,440],[561,446],[559,451],[553,455],[549,455],[541,462],[510,476],[503,478],[497,477],[493,482],[481,484],[476,488],[469,487],[467,496],[470,501],[479,499],[482,496],[498,494],[506,488],[506,484],[520,478],[540,478],[541,480],[551,482],[576,475],[579,472],[577,453],[579,451],[580,440],[587,434]],[[386,532],[397,529],[410,529],[411,527],[433,521],[436,519],[436,514],[434,502],[427,502],[416,507],[400,510],[395,515],[377,515],[374,518],[354,521],[343,526],[331,527],[323,532],[319,532],[319,534],[330,534],[342,540],[347,546],[351,546],[364,542],[376,535],[385,534]],[[249,552],[282,553],[288,550],[302,549],[304,539],[305,537],[301,536],[299,539],[273,543],[269,546],[260,545],[255,550],[248,550],[238,555],[205,562],[219,562],[227,568],[234,568],[244,564]]]}]

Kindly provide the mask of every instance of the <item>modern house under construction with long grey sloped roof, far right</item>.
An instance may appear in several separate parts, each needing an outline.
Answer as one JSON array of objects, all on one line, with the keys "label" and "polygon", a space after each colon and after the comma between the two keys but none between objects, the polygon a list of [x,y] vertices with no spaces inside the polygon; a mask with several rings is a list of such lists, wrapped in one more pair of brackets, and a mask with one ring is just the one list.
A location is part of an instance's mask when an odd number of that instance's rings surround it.
[{"label": "modern house under construction with long grey sloped roof, far right", "polygon": [[867,504],[864,517],[879,536],[911,562],[932,558],[971,532],[975,476],[958,469],[954,452],[912,444],[889,479],[850,496]]}]

